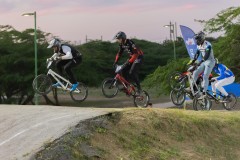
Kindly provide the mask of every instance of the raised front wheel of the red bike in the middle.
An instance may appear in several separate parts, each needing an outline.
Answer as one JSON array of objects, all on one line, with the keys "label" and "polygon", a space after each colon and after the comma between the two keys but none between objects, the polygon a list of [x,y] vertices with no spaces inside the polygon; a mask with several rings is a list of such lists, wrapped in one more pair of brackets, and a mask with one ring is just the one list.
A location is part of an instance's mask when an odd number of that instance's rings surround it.
[{"label": "raised front wheel of the red bike in the middle", "polygon": [[118,94],[118,83],[114,78],[106,78],[102,83],[102,93],[107,98],[113,98]]}]

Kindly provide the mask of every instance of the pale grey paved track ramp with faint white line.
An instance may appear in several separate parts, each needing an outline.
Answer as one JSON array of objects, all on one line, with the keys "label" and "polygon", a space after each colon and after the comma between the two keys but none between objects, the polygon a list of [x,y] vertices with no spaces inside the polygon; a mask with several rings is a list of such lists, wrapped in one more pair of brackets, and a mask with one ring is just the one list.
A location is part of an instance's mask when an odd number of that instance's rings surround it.
[{"label": "pale grey paved track ramp with faint white line", "polygon": [[121,109],[0,105],[0,160],[25,160],[78,122]]}]

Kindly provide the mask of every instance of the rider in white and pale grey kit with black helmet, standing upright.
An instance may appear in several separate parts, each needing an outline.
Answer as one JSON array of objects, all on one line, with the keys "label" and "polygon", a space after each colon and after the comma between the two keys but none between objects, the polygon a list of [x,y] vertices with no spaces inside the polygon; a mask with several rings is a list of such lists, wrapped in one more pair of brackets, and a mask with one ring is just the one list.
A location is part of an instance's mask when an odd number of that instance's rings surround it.
[{"label": "rider in white and pale grey kit with black helmet, standing upright", "polygon": [[202,31],[195,35],[195,39],[197,42],[197,52],[194,56],[194,59],[191,60],[191,64],[198,59],[199,55],[201,56],[199,67],[193,72],[193,79],[196,82],[198,75],[203,72],[203,94],[201,97],[199,97],[199,99],[202,99],[206,95],[209,84],[208,78],[215,65],[215,59],[213,56],[212,45],[210,42],[205,40],[205,34]]}]

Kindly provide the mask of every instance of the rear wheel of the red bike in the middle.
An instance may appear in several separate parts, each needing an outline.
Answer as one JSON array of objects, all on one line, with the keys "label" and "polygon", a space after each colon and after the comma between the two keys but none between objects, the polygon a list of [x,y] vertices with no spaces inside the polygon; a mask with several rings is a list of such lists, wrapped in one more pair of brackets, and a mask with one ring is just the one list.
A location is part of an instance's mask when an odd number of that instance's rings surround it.
[{"label": "rear wheel of the red bike in the middle", "polygon": [[144,90],[140,92],[140,95],[133,97],[134,105],[139,108],[147,107],[150,102],[149,94]]}]

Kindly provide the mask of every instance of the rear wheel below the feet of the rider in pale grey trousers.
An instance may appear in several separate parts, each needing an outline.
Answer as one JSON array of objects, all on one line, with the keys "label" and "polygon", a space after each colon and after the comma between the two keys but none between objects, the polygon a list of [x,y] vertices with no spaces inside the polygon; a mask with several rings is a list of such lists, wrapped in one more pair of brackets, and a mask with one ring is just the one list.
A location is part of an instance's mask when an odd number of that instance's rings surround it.
[{"label": "rear wheel below the feet of the rider in pale grey trousers", "polygon": [[198,110],[210,110],[212,108],[212,101],[208,96],[204,98],[204,100],[199,100],[198,97],[194,97],[193,99],[193,109],[195,111]]}]

